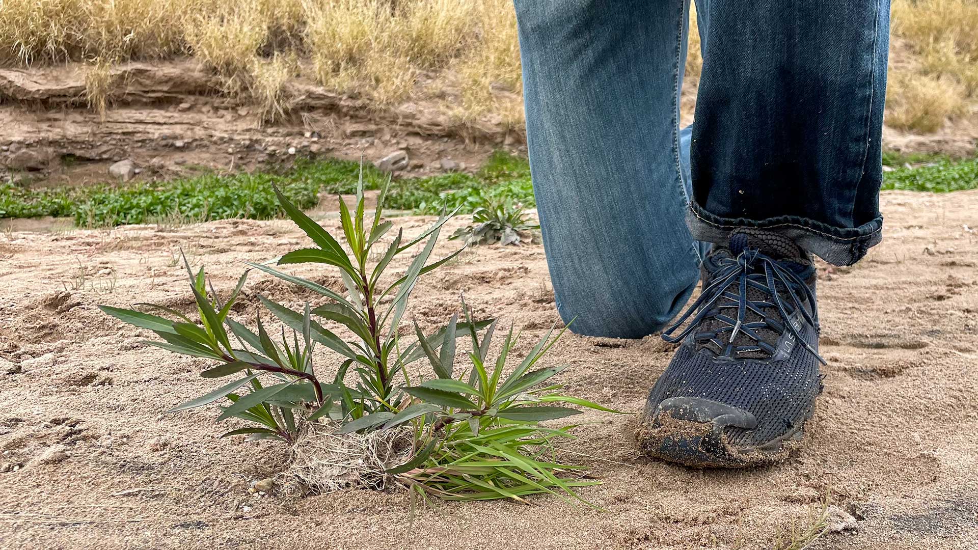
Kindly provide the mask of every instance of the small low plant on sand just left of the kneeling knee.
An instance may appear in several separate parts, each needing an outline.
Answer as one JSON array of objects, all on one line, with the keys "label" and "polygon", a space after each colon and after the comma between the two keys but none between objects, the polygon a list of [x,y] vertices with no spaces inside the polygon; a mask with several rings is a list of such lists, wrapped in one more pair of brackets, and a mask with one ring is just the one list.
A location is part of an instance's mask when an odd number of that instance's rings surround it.
[{"label": "small low plant on sand just left of the kneeling knee", "polygon": [[472,224],[459,228],[449,239],[465,238],[466,245],[532,244],[539,229],[540,225],[531,223],[526,210],[518,203],[486,199],[472,212]]}]

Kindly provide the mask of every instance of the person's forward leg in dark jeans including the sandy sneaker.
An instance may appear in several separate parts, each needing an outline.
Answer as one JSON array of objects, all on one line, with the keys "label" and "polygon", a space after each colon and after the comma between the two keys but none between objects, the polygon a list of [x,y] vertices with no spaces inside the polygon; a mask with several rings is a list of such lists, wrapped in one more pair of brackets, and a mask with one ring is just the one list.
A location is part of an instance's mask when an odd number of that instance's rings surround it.
[{"label": "person's forward leg in dark jeans including the sandy sneaker", "polygon": [[[811,253],[879,241],[888,0],[705,0],[692,234],[716,245],[639,440],[694,466],[775,462],[822,390]],[[687,322],[689,321],[689,322]]]}]

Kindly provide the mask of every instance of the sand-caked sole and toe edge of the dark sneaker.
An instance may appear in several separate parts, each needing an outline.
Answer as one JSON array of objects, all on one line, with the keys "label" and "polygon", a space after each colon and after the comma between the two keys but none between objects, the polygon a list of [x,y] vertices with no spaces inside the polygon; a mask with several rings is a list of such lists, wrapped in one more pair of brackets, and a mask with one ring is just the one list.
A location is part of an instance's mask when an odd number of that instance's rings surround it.
[{"label": "sand-caked sole and toe edge of the dark sneaker", "polygon": [[777,464],[801,444],[805,423],[815,414],[815,403],[794,428],[763,445],[733,447],[712,422],[674,418],[671,411],[651,417],[646,413],[636,439],[643,453],[694,468],[756,468]]}]

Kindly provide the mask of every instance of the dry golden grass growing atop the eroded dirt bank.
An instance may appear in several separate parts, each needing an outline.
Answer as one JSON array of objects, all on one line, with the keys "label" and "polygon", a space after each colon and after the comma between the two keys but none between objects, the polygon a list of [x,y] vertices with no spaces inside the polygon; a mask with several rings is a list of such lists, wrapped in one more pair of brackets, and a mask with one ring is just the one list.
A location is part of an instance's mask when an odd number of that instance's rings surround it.
[{"label": "dry golden grass growing atop the eroded dirt bank", "polygon": [[[934,131],[978,100],[978,3],[893,0],[893,32],[912,59],[891,70],[889,124]],[[288,115],[283,79],[301,65],[378,108],[448,86],[459,93],[447,109],[464,121],[522,122],[511,0],[0,0],[0,66],[87,62],[99,112],[112,64],[181,55],[220,75],[224,92],[254,96],[266,120]],[[286,69],[293,59],[303,63]],[[690,84],[701,68],[693,11]]]}]

